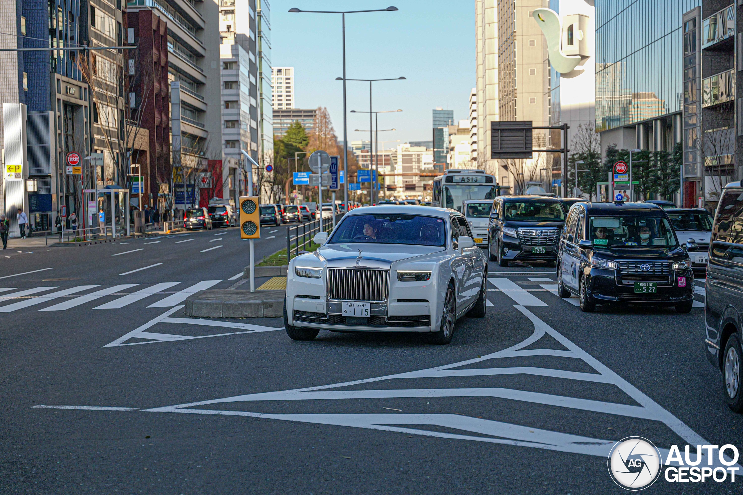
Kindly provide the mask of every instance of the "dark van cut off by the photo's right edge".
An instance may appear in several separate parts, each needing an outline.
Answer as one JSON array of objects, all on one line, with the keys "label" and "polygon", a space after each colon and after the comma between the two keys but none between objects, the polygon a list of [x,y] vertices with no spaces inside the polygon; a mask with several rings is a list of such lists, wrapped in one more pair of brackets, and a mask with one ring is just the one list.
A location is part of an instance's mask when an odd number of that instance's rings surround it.
[{"label": "dark van cut off by the photo's right edge", "polygon": [[722,372],[727,407],[743,412],[743,185],[722,190],[712,227],[704,297],[707,359]]}]

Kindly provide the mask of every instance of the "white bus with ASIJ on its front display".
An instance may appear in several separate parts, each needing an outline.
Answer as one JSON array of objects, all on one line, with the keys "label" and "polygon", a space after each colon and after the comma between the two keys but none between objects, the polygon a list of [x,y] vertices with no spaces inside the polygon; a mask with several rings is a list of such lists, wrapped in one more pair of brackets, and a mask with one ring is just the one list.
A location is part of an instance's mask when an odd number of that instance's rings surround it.
[{"label": "white bus with ASIJ on its front display", "polygon": [[493,200],[500,195],[496,177],[484,170],[447,170],[433,180],[431,206],[461,212],[464,200]]}]

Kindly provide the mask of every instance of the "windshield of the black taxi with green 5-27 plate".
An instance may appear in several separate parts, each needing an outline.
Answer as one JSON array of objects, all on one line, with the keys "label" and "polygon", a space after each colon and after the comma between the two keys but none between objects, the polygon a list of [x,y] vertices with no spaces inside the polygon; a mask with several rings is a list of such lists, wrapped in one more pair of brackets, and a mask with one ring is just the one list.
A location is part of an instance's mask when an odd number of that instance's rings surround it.
[{"label": "windshield of the black taxi with green 5-27 plate", "polygon": [[593,217],[588,236],[594,246],[642,248],[677,244],[671,224],[663,217]]}]

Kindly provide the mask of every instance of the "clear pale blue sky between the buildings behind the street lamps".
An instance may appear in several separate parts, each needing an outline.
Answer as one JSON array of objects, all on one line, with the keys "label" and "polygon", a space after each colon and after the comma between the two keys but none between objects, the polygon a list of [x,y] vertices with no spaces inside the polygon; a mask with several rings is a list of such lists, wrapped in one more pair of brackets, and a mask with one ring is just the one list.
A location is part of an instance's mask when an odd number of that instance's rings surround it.
[{"label": "clear pale blue sky between the buildings behind the street lamps", "polygon": [[[467,119],[475,85],[475,2],[473,0],[273,0],[271,62],[294,67],[297,108],[328,108],[343,139],[341,16],[288,13],[302,10],[366,10],[398,7],[397,12],[348,14],[345,17],[346,76],[405,81],[374,83],[374,111],[380,114],[383,140],[432,139],[431,111],[449,108],[454,119]],[[369,83],[347,82],[348,111],[369,110]],[[348,140],[369,139],[369,114],[348,114]],[[386,148],[397,143],[389,142]]]}]

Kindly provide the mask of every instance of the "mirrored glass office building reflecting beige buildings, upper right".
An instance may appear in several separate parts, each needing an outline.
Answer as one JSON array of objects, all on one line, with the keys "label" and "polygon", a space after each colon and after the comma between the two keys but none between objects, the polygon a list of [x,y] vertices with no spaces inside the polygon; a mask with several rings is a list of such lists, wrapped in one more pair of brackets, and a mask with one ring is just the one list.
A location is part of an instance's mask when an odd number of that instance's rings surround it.
[{"label": "mirrored glass office building reflecting beige buildings, upper right", "polygon": [[[597,131],[681,112],[682,17],[700,3],[596,0]],[[638,141],[643,148],[643,137]]]}]

